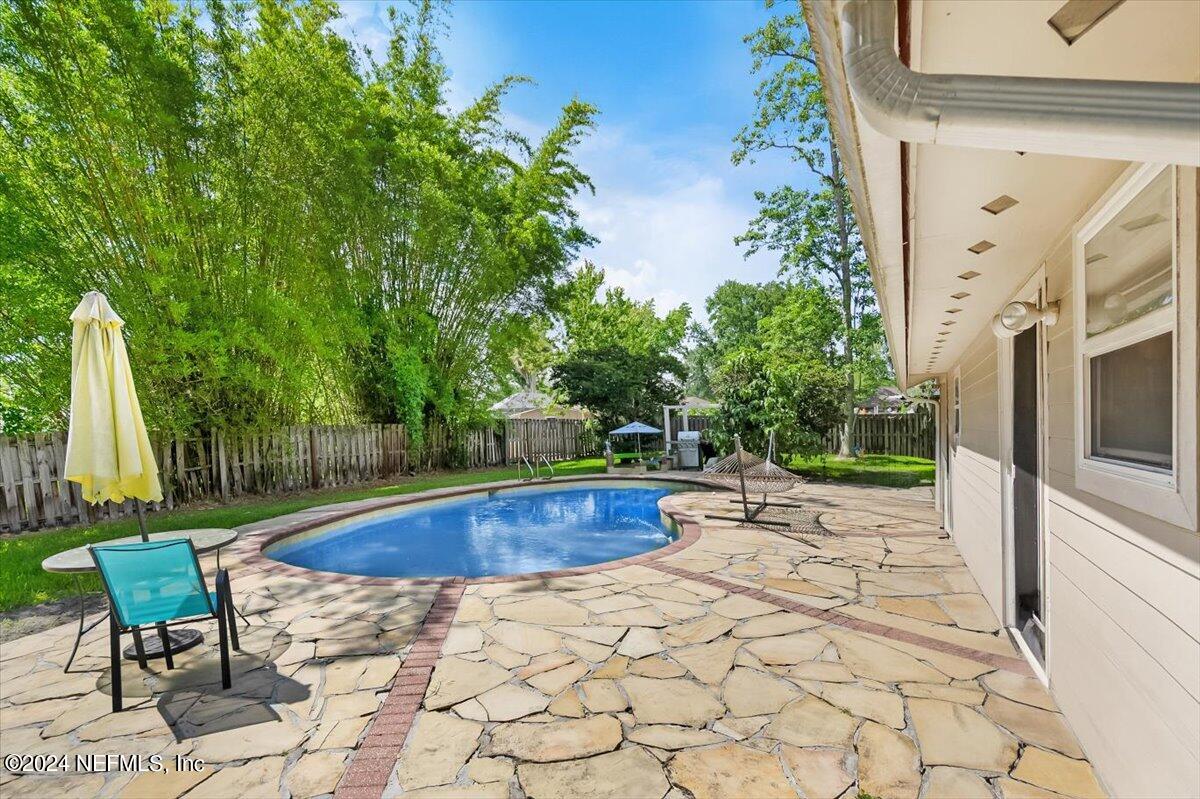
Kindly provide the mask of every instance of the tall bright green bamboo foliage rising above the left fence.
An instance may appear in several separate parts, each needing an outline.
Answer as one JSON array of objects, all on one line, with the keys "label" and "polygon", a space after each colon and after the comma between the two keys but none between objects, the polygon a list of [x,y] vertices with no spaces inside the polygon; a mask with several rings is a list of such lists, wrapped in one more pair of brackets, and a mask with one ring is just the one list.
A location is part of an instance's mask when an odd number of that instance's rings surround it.
[{"label": "tall bright green bamboo foliage rising above the left fence", "polygon": [[[360,59],[330,0],[0,4],[0,414],[65,423],[67,317],[126,320],[161,428],[452,423],[510,373],[514,319],[590,241],[569,102],[530,142],[522,78],[445,103],[440,7]],[[502,374],[503,373],[503,374]]]}]

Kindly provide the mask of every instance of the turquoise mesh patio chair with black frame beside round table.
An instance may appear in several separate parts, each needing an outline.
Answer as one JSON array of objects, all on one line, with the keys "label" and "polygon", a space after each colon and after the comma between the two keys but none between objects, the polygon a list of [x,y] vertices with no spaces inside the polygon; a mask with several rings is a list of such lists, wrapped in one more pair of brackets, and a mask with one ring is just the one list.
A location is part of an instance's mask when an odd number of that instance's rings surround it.
[{"label": "turquoise mesh patio chair with black frame beside round table", "polygon": [[138,666],[145,668],[142,632],[156,630],[167,668],[174,668],[167,627],[216,619],[221,636],[221,687],[229,687],[229,643],[239,651],[240,647],[228,569],[217,571],[217,590],[209,591],[196,547],[188,539],[89,546],[88,549],[108,594],[114,713],[121,709],[121,635],[126,632],[133,635]]}]

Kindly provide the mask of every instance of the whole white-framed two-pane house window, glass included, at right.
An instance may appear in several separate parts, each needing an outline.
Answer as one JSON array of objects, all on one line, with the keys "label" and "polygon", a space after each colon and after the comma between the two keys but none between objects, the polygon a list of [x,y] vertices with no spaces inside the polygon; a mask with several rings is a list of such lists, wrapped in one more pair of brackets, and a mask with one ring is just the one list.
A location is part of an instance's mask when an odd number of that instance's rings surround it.
[{"label": "whole white-framed two-pane house window, glass included, at right", "polygon": [[1182,352],[1193,346],[1180,319],[1195,286],[1178,264],[1183,239],[1195,258],[1195,233],[1177,228],[1176,179],[1172,167],[1132,169],[1075,233],[1075,483],[1190,527],[1195,388],[1177,359],[1181,336]]}]

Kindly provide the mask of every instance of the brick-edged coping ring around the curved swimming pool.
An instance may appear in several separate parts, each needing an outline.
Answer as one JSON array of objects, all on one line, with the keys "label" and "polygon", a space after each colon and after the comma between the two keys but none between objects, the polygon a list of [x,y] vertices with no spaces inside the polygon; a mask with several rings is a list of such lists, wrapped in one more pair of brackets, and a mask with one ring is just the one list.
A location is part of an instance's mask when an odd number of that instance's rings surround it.
[{"label": "brick-edged coping ring around the curved swimming pool", "polygon": [[491,584],[491,583],[515,583],[515,582],[527,582],[532,579],[552,579],[556,577],[572,577],[576,575],[588,575],[598,571],[607,571],[610,569],[620,569],[623,566],[643,565],[647,563],[652,563],[654,560],[659,560],[661,558],[667,558],[670,555],[676,554],[680,549],[690,547],[692,543],[700,540],[698,519],[694,518],[692,516],[688,516],[680,512],[679,510],[671,509],[670,507],[671,503],[667,501],[670,499],[668,495],[664,497],[660,500],[666,505],[665,507],[662,507],[662,511],[676,524],[679,525],[679,537],[677,537],[667,546],[660,547],[658,549],[650,549],[649,552],[630,555],[628,558],[620,558],[618,560],[605,560],[602,563],[590,564],[587,566],[572,566],[569,569],[553,569],[548,571],[528,571],[514,575],[496,575],[491,577],[462,577],[462,576],[368,577],[365,575],[343,575],[341,572],[334,572],[334,571],[302,569],[300,566],[293,566],[290,564],[275,560],[274,558],[270,558],[264,553],[266,547],[286,537],[296,535],[298,533],[306,533],[308,530],[317,529],[318,527],[335,524],[337,522],[343,522],[355,516],[361,516],[364,513],[370,513],[378,510],[402,507],[404,505],[414,505],[432,499],[466,497],[470,494],[479,494],[505,488],[522,488],[530,486],[548,486],[557,483],[598,482],[598,481],[683,482],[694,486],[700,486],[703,488],[712,488],[714,491],[730,491],[728,486],[716,482],[714,480],[706,480],[704,477],[692,476],[692,475],[679,475],[677,473],[665,473],[661,475],[592,474],[592,475],[569,475],[569,476],[552,477],[548,480],[539,480],[539,481],[499,480],[494,482],[479,482],[479,483],[472,483],[469,486],[454,486],[450,488],[430,488],[427,491],[419,491],[410,494],[397,494],[395,497],[385,497],[380,499],[367,499],[367,500],[360,499],[348,503],[319,505],[317,507],[310,507],[302,511],[296,511],[295,513],[277,516],[274,519],[265,519],[263,522],[246,524],[238,528],[241,535],[239,536],[238,541],[234,545],[232,545],[229,549],[227,549],[227,552],[236,555],[238,559],[241,560],[241,563],[245,564],[246,566],[268,573],[287,575],[289,577],[296,577],[300,579],[311,579],[322,583],[335,583],[343,585],[392,585],[398,588],[408,585],[445,585],[445,584],[474,585],[474,584]]}]

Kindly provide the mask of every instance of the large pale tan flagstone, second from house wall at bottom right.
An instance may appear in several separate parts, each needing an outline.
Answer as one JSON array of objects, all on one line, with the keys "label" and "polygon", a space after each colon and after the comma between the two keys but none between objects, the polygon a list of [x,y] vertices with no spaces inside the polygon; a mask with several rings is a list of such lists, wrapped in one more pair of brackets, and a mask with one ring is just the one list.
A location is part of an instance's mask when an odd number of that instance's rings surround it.
[{"label": "large pale tan flagstone, second from house wall at bottom right", "polygon": [[925,765],[1007,773],[1016,759],[1016,739],[964,704],[912,698],[908,714]]}]

